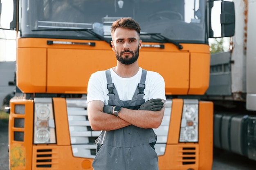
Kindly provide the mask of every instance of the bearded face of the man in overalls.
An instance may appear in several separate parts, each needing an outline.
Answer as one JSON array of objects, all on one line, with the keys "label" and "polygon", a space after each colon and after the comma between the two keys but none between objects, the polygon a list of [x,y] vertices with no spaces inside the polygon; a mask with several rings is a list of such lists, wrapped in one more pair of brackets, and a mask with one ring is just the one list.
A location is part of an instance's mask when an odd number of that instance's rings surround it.
[{"label": "bearded face of the man in overalls", "polygon": [[112,50],[115,51],[117,60],[122,64],[132,64],[139,57],[141,40],[135,30],[117,28],[112,34]]}]

